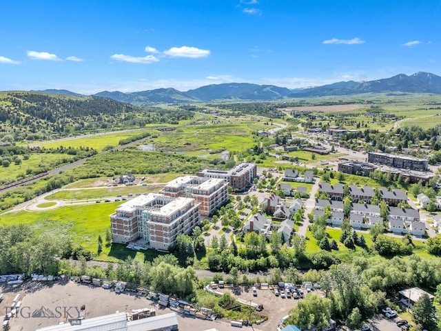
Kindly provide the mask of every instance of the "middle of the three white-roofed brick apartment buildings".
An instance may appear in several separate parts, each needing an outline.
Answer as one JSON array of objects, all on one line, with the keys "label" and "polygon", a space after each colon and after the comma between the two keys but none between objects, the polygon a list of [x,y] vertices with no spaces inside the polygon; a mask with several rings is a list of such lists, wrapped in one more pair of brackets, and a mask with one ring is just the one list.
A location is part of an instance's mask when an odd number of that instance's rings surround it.
[{"label": "middle of the three white-roofed brick apartment buildings", "polygon": [[212,215],[228,200],[228,183],[219,178],[183,176],[167,183],[161,193],[168,197],[193,198],[202,216]]}]

